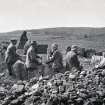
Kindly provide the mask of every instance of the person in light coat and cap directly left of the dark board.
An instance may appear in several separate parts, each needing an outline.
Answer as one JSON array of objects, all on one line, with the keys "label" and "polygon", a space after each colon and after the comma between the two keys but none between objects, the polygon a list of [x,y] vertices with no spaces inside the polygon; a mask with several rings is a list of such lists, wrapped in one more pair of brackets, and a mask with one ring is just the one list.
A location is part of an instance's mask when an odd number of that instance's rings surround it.
[{"label": "person in light coat and cap directly left of the dark board", "polygon": [[39,62],[39,59],[40,59],[40,56],[37,55],[37,42],[32,41],[26,53],[25,64],[26,64],[26,69],[28,71],[28,74],[31,71],[34,73],[34,71],[38,70],[38,66],[41,66],[41,62]]}]

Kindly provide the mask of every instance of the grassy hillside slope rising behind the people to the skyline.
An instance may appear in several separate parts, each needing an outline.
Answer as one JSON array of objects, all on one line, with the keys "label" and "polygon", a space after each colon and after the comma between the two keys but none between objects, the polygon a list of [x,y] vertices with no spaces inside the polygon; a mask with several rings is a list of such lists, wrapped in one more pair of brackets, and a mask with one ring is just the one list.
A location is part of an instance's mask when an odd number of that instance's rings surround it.
[{"label": "grassy hillside slope rising behind the people to the skyline", "polygon": [[[30,40],[50,45],[57,42],[65,49],[68,45],[77,44],[80,47],[104,50],[105,28],[88,27],[58,27],[46,29],[26,30]],[[19,38],[23,30],[0,33],[0,41],[9,40],[11,37]],[[85,38],[85,36],[87,36]]]}]

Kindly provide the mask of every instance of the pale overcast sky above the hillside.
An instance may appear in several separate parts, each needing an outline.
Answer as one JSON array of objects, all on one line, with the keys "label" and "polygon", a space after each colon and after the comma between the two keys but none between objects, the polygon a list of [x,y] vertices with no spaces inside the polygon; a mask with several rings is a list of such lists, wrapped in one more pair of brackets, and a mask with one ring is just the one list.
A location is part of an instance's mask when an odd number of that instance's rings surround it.
[{"label": "pale overcast sky above the hillside", "polygon": [[0,32],[105,27],[105,0],[0,0]]}]

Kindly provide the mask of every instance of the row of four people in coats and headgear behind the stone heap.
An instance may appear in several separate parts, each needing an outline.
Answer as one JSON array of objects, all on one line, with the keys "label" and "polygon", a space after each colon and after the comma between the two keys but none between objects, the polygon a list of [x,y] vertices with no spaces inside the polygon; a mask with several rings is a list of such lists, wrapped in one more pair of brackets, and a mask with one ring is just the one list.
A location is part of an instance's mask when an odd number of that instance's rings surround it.
[{"label": "row of four people in coats and headgear behind the stone heap", "polygon": [[[12,39],[5,53],[5,61],[7,63],[9,75],[13,75],[12,71],[15,62],[19,59],[21,60],[21,57],[16,52],[16,43],[17,40]],[[37,70],[38,67],[41,67],[43,65],[42,62],[40,62],[41,57],[37,54],[37,48],[37,42],[32,41],[26,52],[25,65],[27,71]],[[63,60],[65,60],[65,67],[63,64]],[[49,66],[49,69],[53,71],[53,73],[60,73],[65,69],[70,71],[72,70],[72,68],[80,70],[81,66],[78,60],[78,46],[69,46],[67,48],[65,59],[63,59],[63,55],[58,48],[58,44],[53,43],[47,53],[46,64]]]}]

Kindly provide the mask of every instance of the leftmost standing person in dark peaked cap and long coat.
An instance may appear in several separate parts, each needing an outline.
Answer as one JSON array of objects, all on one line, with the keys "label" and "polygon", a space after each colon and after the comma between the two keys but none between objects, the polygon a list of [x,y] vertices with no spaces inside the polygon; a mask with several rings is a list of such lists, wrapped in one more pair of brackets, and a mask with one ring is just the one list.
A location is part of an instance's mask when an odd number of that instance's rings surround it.
[{"label": "leftmost standing person in dark peaked cap and long coat", "polygon": [[13,64],[19,59],[19,55],[16,53],[16,39],[11,39],[7,51],[5,52],[5,62],[7,64],[9,75],[13,75]]}]

